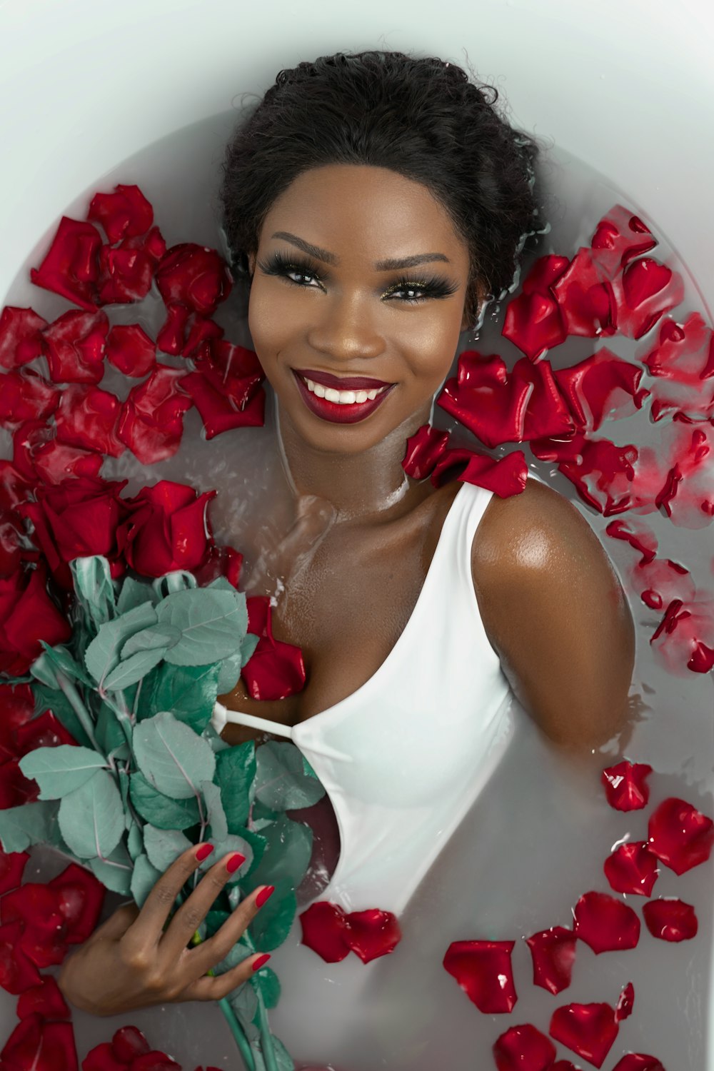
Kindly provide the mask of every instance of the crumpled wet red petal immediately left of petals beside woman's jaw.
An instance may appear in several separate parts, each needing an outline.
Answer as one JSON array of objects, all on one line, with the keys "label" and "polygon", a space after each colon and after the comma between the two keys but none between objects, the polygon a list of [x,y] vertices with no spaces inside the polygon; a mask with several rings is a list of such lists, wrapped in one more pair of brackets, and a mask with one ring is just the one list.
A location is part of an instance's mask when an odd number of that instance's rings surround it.
[{"label": "crumpled wet red petal immediately left of petals beside woman's jaw", "polygon": [[172,457],[181,444],[183,414],[194,404],[181,388],[185,375],[157,364],[124,402],[118,435],[142,465]]}]

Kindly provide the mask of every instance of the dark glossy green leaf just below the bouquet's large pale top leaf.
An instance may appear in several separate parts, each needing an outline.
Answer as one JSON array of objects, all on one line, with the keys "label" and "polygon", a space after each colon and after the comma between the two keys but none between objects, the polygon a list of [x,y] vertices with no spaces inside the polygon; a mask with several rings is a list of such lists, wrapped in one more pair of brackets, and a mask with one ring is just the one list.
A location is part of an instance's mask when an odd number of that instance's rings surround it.
[{"label": "dark glossy green leaf just below the bouquet's large pale top leaf", "polygon": [[178,721],[201,734],[211,720],[218,694],[221,663],[176,666],[164,663],[146,681],[141,693],[142,716],[170,710]]}]

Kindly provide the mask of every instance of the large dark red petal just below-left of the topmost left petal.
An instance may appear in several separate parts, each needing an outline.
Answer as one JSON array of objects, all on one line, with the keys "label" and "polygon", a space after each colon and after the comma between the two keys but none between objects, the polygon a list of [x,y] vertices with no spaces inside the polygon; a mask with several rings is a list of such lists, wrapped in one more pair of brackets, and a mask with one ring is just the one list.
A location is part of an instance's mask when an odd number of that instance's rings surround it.
[{"label": "large dark red petal just below-left of the topmost left petal", "polygon": [[30,269],[35,286],[61,293],[87,312],[96,307],[96,280],[102,236],[91,223],[63,215],[47,256]]}]

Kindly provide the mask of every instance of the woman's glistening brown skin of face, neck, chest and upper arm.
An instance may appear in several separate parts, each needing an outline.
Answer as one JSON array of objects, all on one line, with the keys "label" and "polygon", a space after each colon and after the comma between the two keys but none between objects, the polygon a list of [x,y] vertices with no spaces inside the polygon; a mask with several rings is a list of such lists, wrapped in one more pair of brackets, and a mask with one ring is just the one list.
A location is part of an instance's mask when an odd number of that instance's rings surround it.
[{"label": "woman's glistening brown skin of face, neck, chest and upper arm", "polygon": [[[274,253],[294,267],[275,274]],[[420,254],[439,259],[378,267]],[[276,199],[249,268],[248,325],[277,398],[297,515],[301,502],[326,504],[333,523],[299,571],[289,554],[275,563],[286,590],[273,633],[302,648],[305,689],[257,702],[239,681],[219,698],[293,725],[355,692],[384,662],[460,486],[435,489],[408,479],[406,492],[390,498],[405,483],[406,440],[427,423],[468,326],[469,257],[424,185],[385,168],[336,164],[303,172]],[[417,287],[390,292],[400,277],[416,284],[435,274],[453,292],[411,303]],[[310,411],[293,368],[394,386],[370,416],[337,424]],[[633,621],[578,510],[536,481],[520,495],[493,496],[474,537],[472,576],[489,640],[538,726],[556,743],[586,752],[622,731]],[[224,737],[239,743],[259,734],[227,725]]]}]

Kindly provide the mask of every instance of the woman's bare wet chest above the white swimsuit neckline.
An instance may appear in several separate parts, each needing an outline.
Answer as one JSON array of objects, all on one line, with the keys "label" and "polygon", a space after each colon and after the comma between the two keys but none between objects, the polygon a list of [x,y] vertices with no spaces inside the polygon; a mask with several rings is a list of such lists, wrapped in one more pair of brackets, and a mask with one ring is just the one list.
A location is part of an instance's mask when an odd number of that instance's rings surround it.
[{"label": "woman's bare wet chest above the white swimsuit neckline", "polygon": [[[285,699],[257,700],[240,679],[219,700],[292,726],[359,691],[389,658],[414,610],[454,493],[431,496],[399,524],[337,526],[299,568],[284,563],[273,637],[300,647],[305,687]],[[234,724],[223,735],[231,744],[260,736]]]}]

